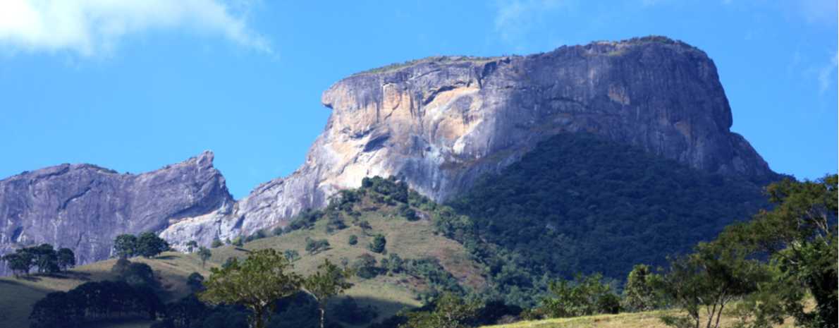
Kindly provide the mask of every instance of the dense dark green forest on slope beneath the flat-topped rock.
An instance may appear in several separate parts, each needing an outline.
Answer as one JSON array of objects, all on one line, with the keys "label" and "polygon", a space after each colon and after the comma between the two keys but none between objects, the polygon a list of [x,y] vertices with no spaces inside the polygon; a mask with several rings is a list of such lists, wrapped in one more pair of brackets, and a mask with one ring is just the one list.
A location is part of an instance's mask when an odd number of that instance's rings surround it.
[{"label": "dense dark green forest on slope beneath the flat-topped rock", "polygon": [[545,140],[502,174],[485,174],[439,211],[440,232],[490,269],[482,294],[533,305],[548,279],[602,273],[616,287],[769,206],[780,176],[707,174],[586,133]]}]

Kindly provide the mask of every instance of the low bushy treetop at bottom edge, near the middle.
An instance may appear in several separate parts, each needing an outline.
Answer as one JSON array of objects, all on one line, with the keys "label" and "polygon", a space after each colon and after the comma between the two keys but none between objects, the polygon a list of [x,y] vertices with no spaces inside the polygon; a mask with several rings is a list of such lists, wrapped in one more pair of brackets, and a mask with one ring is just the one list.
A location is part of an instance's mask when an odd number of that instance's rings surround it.
[{"label": "low bushy treetop at bottom edge, near the middle", "polygon": [[399,325],[399,328],[466,328],[471,326],[481,310],[477,299],[465,302],[448,292],[436,303],[433,312],[399,311],[397,315],[408,318],[408,323]]}]

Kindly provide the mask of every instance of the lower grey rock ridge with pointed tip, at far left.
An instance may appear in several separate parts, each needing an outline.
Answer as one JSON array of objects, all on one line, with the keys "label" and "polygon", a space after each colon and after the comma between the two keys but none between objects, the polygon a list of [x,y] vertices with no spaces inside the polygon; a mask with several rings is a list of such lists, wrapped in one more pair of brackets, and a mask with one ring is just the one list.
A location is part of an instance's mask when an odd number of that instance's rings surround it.
[{"label": "lower grey rock ridge with pointed tip, at far left", "polygon": [[[205,152],[145,174],[65,164],[0,180],[0,253],[50,243],[73,249],[79,264],[91,263],[108,258],[117,235],[161,232],[230,211],[232,196],[212,160]],[[0,275],[10,274],[0,266]]]}]

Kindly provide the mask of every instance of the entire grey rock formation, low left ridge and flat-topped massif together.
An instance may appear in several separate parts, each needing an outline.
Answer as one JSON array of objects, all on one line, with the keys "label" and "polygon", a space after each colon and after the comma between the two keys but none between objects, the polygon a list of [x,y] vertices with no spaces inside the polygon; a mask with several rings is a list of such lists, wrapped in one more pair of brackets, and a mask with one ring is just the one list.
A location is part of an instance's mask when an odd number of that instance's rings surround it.
[{"label": "entire grey rock formation, low left ridge and flat-topped massif together", "polygon": [[713,61],[658,37],[526,57],[432,57],[353,75],[322,102],[333,112],[305,164],[235,203],[211,153],[147,174],[77,164],[0,181],[0,253],[50,242],[87,263],[107,258],[118,234],[145,231],[175,247],[209,245],[284,226],[373,175],[448,200],[560,131],[639,145],[706,172],[775,175],[729,130]]}]

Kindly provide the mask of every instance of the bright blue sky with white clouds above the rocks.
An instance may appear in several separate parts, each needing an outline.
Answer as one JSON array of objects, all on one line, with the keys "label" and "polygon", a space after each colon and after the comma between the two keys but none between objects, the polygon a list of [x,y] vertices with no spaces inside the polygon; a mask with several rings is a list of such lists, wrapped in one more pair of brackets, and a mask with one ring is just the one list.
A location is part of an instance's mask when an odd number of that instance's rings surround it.
[{"label": "bright blue sky with white clouds above the rocks", "polygon": [[0,0],[0,179],[140,173],[210,149],[240,198],[305,159],[353,73],[650,34],[717,63],[772,169],[836,173],[836,0]]}]

